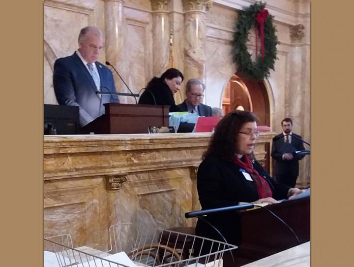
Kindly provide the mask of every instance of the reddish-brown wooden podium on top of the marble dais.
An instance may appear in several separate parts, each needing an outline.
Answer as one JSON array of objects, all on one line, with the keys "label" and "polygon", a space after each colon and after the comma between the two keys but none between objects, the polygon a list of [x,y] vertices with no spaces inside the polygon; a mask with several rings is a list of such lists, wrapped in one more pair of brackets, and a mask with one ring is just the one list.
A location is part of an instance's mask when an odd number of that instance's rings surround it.
[{"label": "reddish-brown wooden podium on top of the marble dais", "polygon": [[81,128],[81,134],[148,134],[149,126],[169,126],[168,105],[104,105],[105,114]]}]

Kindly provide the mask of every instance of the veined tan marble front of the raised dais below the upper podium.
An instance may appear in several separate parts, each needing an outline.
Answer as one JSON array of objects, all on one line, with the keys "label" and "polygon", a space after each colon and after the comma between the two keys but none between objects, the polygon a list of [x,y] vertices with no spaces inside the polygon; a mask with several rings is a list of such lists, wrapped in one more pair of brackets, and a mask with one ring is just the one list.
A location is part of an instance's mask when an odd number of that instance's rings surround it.
[{"label": "veined tan marble front of the raised dais below the upper podium", "polygon": [[[70,234],[73,245],[108,250],[108,229],[194,226],[196,168],[211,133],[44,137],[44,236]],[[265,162],[263,133],[255,155]],[[131,233],[136,227],[131,228]]]}]

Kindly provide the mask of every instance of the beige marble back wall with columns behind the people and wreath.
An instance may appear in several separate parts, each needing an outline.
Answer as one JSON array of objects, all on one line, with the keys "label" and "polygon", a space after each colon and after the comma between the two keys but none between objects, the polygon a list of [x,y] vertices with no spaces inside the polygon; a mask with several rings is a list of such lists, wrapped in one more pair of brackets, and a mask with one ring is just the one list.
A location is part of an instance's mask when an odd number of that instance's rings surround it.
[{"label": "beige marble back wall with columns behind the people and wreath", "polygon": [[[95,25],[105,36],[105,50],[99,61],[115,65],[134,93],[139,93],[153,75],[160,75],[167,67],[177,67],[186,80],[202,79],[206,83],[203,101],[220,107],[223,90],[237,71],[230,56],[237,10],[248,3],[244,0],[45,0],[44,102],[57,103],[52,84],[54,61],[77,49],[81,28]],[[279,39],[275,70],[265,80],[270,127],[280,132],[280,121],[292,117],[294,132],[309,141],[310,3],[308,0],[266,3],[275,16]],[[296,25],[303,25],[304,29]],[[166,36],[168,31],[171,38]],[[254,50],[254,38],[251,31],[250,51]],[[128,92],[119,77],[114,76],[118,91]],[[176,94],[177,103],[184,100],[184,84]],[[121,102],[134,103],[134,99],[121,97]],[[309,173],[306,157],[299,178],[302,186],[308,183]]]}]

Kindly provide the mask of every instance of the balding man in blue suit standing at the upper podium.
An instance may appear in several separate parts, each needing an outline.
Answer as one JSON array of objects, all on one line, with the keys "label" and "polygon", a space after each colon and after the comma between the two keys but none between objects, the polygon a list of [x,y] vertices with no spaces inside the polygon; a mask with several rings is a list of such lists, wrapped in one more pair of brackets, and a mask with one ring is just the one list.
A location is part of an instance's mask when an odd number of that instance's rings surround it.
[{"label": "balding man in blue suit standing at the upper podium", "polygon": [[104,103],[119,103],[111,70],[97,62],[103,48],[102,32],[92,26],[79,34],[79,49],[54,64],[53,86],[60,105],[79,106],[80,125],[85,126],[105,113]]}]

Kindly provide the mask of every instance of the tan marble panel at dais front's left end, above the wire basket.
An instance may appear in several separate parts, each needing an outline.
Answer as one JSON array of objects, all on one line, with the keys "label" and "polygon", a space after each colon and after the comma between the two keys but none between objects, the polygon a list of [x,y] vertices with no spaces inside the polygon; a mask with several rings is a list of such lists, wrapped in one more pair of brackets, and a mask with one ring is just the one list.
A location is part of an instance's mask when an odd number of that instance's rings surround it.
[{"label": "tan marble panel at dais front's left end, above the wire basket", "polygon": [[44,184],[44,236],[70,234],[74,246],[102,248],[107,219],[102,178]]}]

